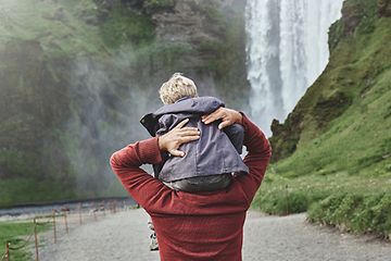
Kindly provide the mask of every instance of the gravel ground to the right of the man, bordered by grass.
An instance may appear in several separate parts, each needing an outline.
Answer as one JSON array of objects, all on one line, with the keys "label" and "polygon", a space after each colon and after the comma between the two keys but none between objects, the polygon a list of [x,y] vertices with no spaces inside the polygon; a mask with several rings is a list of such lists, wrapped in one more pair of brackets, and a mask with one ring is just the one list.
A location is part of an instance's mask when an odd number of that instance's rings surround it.
[{"label": "gravel ground to the right of the man, bordered by grass", "polygon": [[390,261],[391,244],[308,224],[305,214],[262,216],[250,212],[243,260]]}]

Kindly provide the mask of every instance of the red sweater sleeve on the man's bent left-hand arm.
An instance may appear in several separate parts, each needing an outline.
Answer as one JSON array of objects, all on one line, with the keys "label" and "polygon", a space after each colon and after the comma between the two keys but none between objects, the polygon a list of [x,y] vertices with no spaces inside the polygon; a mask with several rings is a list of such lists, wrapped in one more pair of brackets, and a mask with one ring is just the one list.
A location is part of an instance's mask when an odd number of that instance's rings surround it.
[{"label": "red sweater sleeve on the man's bent left-hand arm", "polygon": [[157,164],[161,161],[156,137],[128,145],[110,158],[112,170],[125,189],[144,209],[149,209],[159,191],[167,187],[140,169],[140,165]]}]

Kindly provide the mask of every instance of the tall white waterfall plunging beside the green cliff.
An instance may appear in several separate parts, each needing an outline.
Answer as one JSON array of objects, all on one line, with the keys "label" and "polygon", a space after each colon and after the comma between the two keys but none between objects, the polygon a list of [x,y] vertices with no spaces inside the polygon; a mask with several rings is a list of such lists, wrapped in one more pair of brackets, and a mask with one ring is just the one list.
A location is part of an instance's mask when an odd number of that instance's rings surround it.
[{"label": "tall white waterfall plunging beside the green cliff", "polygon": [[252,119],[270,135],[328,63],[328,29],[343,0],[248,0],[248,79]]}]

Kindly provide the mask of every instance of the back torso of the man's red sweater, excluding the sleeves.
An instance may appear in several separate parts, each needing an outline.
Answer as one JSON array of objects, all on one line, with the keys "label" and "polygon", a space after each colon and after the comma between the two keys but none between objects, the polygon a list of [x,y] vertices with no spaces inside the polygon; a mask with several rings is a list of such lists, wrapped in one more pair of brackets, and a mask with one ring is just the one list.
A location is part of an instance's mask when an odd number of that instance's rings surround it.
[{"label": "back torso of the man's red sweater, excluding the sleeves", "polygon": [[238,182],[219,192],[171,194],[169,214],[147,209],[162,260],[240,260],[249,202]]}]

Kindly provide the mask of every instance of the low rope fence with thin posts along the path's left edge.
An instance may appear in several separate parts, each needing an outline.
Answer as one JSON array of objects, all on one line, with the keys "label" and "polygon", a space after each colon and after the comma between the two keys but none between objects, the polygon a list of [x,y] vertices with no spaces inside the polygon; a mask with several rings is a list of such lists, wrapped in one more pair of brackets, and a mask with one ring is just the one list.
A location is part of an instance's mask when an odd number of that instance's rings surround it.
[{"label": "low rope fence with thin posts along the path's left edge", "polygon": [[[53,229],[53,243],[58,243],[58,229],[59,229],[59,223],[63,224],[63,228],[65,229],[65,233],[70,233],[70,223],[76,224],[78,221],[78,225],[81,226],[84,224],[83,220],[87,221],[88,216],[91,216],[93,221],[98,221],[98,213],[101,212],[103,216],[106,216],[105,213],[105,206],[106,203],[102,201],[100,204],[94,203],[92,208],[83,208],[83,203],[78,204],[78,208],[75,209],[78,213],[71,214],[71,210],[64,206],[60,211],[56,209],[52,210],[51,214],[46,215],[36,215],[33,219],[33,233],[27,236],[27,239],[22,239],[24,243],[21,246],[12,246],[12,239],[9,239],[5,241],[5,252],[1,256],[0,261],[13,261],[11,259],[11,251],[16,251],[23,248],[28,247],[30,243],[33,243],[31,238],[34,236],[34,245],[35,245],[35,261],[39,261],[39,238],[38,238],[38,227],[45,226],[48,224],[52,224]],[[116,202],[109,202],[109,211],[112,214],[115,214],[117,212]],[[123,211],[125,211],[127,208],[125,201],[123,202]],[[75,212],[74,211],[74,212]],[[77,215],[77,216],[76,216]],[[61,222],[61,217],[63,217],[63,221]],[[84,217],[84,219],[83,219]],[[40,220],[38,222],[38,220]],[[43,221],[42,221],[43,220]],[[77,220],[77,221],[76,221]],[[89,219],[91,221],[91,219]]]}]

